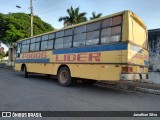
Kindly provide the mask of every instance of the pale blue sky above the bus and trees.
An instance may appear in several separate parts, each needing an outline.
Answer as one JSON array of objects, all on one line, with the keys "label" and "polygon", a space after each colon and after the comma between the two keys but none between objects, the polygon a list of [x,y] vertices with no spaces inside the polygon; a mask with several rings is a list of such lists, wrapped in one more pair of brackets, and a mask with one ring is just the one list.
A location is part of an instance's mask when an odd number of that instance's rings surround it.
[{"label": "pale blue sky above the bus and trees", "polygon": [[[21,8],[17,8],[16,5]],[[51,24],[54,28],[63,27],[60,17],[66,16],[66,10],[80,7],[80,12],[86,12],[87,18],[92,12],[103,16],[123,10],[136,13],[148,29],[160,28],[160,0],[33,0],[34,15]],[[24,12],[30,13],[30,0],[0,0],[0,13]]]}]

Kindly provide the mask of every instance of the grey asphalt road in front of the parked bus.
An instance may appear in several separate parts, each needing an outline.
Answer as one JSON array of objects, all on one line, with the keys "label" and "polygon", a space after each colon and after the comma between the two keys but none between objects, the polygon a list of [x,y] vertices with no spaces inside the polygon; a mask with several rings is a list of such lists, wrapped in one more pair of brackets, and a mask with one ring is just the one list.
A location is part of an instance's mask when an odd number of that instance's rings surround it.
[{"label": "grey asphalt road in front of the parked bus", "polygon": [[[0,68],[0,111],[159,111],[160,96],[78,84]],[[89,118],[87,118],[89,119]],[[123,118],[125,120],[126,118]]]}]

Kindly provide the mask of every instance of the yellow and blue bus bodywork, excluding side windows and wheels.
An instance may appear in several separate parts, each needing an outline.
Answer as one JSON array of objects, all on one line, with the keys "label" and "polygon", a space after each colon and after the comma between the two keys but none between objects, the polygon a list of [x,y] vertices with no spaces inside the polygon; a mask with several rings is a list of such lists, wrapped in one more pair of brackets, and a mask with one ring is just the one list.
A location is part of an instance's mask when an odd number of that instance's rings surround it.
[{"label": "yellow and blue bus bodywork, excluding side windows and wheels", "polygon": [[[20,58],[16,58],[15,69],[21,71],[22,64],[25,64],[28,72],[57,75],[61,66],[68,66],[71,76],[76,78],[111,81],[147,78],[148,41],[146,27],[133,12],[123,11],[61,30],[115,16],[122,16],[120,41],[85,47],[21,53]],[[43,35],[50,33],[52,32]],[[131,68],[132,71],[125,72],[124,68],[127,70]]]}]

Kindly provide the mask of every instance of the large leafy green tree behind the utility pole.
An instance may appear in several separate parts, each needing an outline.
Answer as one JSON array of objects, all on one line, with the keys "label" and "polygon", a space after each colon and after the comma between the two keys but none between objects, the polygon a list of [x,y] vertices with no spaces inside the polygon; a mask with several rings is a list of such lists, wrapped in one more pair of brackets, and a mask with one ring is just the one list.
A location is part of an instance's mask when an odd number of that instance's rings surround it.
[{"label": "large leafy green tree behind the utility pole", "polygon": [[[54,30],[54,28],[34,16],[33,34],[38,35]],[[30,15],[25,13],[0,13],[0,40],[12,46],[19,39],[30,37]]]}]

